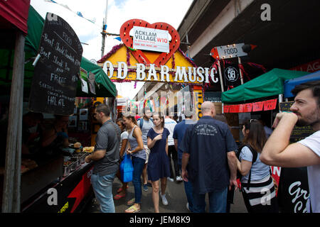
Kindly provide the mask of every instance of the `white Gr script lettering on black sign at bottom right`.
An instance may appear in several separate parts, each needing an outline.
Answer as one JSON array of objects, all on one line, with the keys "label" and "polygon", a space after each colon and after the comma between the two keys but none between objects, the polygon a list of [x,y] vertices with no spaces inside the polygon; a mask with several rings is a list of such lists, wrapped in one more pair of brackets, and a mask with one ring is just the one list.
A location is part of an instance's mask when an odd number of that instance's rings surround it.
[{"label": "white Gr script lettering on black sign at bottom right", "polygon": [[[289,186],[289,194],[294,196],[292,199],[292,204],[294,205],[294,213],[297,213],[297,211],[301,211],[304,207],[303,213],[306,213],[306,200],[309,199],[309,193],[299,187],[301,185],[301,182],[294,182]],[[304,203],[302,201],[297,201],[299,197],[301,197],[305,200]]]}]

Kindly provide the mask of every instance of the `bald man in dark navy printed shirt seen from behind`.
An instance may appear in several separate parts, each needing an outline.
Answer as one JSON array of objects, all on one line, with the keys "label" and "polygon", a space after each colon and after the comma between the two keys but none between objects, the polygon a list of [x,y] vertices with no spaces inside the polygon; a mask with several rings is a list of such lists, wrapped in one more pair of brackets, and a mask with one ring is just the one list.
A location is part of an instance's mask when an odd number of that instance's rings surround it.
[{"label": "bald man in dark navy printed shirt seen from behind", "polygon": [[[193,212],[205,212],[206,193],[210,212],[226,212],[227,193],[237,187],[236,156],[238,148],[228,125],[215,120],[215,106],[210,101],[201,105],[203,117],[188,126],[180,149],[182,177],[193,185]],[[188,170],[186,166],[188,165]]]}]

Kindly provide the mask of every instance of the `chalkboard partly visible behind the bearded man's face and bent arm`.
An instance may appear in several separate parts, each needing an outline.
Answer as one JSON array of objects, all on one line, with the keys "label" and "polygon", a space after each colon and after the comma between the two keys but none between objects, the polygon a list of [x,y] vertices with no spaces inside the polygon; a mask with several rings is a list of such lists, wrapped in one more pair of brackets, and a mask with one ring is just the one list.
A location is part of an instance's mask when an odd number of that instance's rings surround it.
[{"label": "chalkboard partly visible behind the bearded man's face and bent arm", "polygon": [[[290,111],[292,104],[294,104],[294,101],[280,102],[279,109],[280,111]],[[297,140],[308,137],[312,133],[314,133],[314,130],[311,126],[294,126],[294,129],[290,135],[290,141],[296,142]]]}]

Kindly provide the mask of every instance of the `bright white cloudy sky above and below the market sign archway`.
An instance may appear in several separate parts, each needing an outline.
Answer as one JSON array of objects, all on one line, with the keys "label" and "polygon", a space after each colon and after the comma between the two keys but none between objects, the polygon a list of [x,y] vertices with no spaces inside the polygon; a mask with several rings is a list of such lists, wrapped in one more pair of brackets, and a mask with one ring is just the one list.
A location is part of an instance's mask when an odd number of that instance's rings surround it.
[{"label": "bright white cloudy sky above and below the market sign archway", "polygon": [[[38,13],[45,18],[46,13],[55,13],[67,21],[78,35],[83,48],[82,56],[88,60],[100,60],[102,48],[102,25],[107,7],[107,32],[119,34],[120,27],[125,21],[138,18],[149,23],[169,23],[178,29],[183,17],[188,11],[193,0],[31,0]],[[80,11],[83,18],[77,15]],[[94,23],[93,23],[94,22]],[[114,45],[122,43],[114,39],[115,36],[107,36],[105,40],[106,55]],[[144,82],[114,82],[120,96],[134,98]]]}]

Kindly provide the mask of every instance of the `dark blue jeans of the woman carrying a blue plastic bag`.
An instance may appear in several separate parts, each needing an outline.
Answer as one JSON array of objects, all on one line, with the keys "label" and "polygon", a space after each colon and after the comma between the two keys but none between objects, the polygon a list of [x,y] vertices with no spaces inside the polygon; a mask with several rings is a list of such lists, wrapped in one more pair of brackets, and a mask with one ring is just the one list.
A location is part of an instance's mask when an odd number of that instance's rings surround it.
[{"label": "dark blue jeans of the woman carrying a blue plastic bag", "polygon": [[142,170],[144,170],[144,163],[146,160],[140,157],[132,156],[132,165],[134,167],[134,172],[132,174],[132,184],[134,185],[134,203],[140,204],[142,197],[142,183],[141,175]]}]

